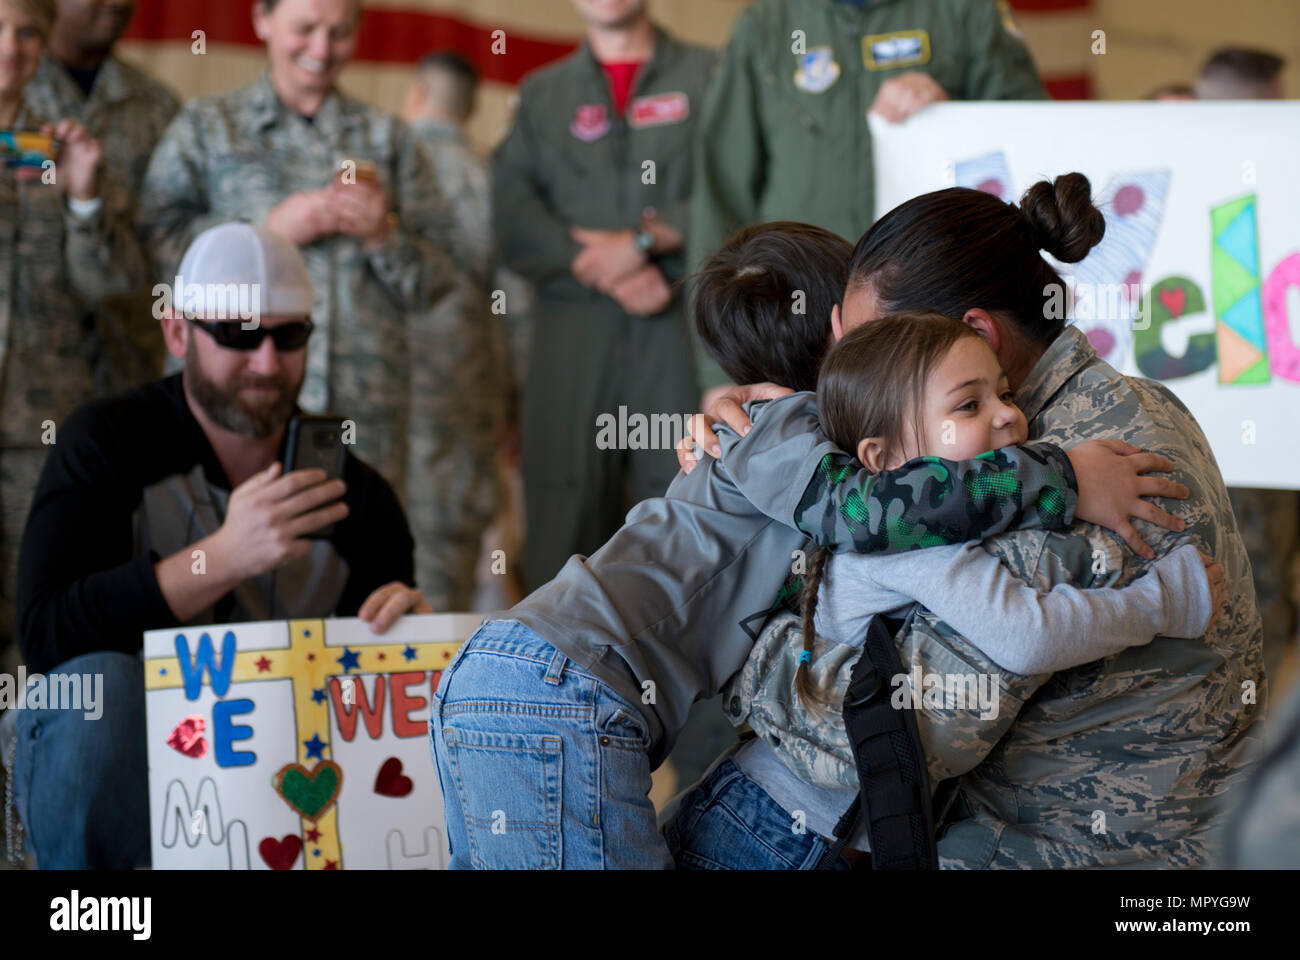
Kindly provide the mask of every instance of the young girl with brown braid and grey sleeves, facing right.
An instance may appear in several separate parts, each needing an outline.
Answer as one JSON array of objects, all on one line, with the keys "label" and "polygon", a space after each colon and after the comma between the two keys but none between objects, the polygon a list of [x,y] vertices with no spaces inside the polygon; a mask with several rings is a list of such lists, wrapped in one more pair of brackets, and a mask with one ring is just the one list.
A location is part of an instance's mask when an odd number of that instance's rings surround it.
[{"label": "young girl with brown braid and grey sleeves, facing right", "polygon": [[[926,460],[942,470],[940,458],[991,457],[985,451],[1024,444],[1027,436],[1024,415],[988,343],[972,327],[939,313],[896,313],[845,334],[822,366],[816,402],[827,437],[878,475]],[[892,526],[888,518],[885,524],[862,519],[872,528]],[[724,693],[733,713],[738,702],[740,715],[758,734],[733,754],[736,766],[784,807],[792,822],[823,836],[857,793],[841,708],[872,617],[920,602],[998,666],[1034,675],[1109,657],[1156,635],[1201,636],[1216,619],[1223,585],[1223,568],[1190,544],[1123,589],[1058,584],[1048,593],[1018,579],[978,541],[831,559],[826,546],[810,557],[802,631],[760,639]],[[953,686],[944,678],[946,688],[961,687],[963,701],[956,709],[997,709],[996,691],[988,704],[967,702],[998,683],[997,674],[985,675],[982,686],[975,667],[930,653],[909,663],[905,649],[905,670],[918,663],[926,675],[942,670],[941,663],[957,669]],[[892,680],[894,706],[920,706],[924,700],[930,709],[924,689],[902,691],[915,683],[911,676]],[[945,702],[939,709],[953,708]],[[927,725],[918,713],[924,741]],[[810,770],[823,783],[833,780],[827,775],[832,769],[842,774],[838,788],[806,782]],[[682,852],[679,840],[692,846],[688,838],[670,840],[677,865],[692,866],[692,852]],[[867,848],[864,825],[850,847]]]}]

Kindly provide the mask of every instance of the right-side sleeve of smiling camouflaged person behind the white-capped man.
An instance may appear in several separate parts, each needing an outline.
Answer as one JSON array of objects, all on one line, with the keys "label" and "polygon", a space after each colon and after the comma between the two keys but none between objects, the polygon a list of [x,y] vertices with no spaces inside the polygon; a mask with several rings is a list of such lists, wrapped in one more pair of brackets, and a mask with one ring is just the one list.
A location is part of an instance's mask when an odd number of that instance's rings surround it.
[{"label": "right-side sleeve of smiling camouflaged person behind the white-capped man", "polygon": [[[429,159],[402,121],[393,125],[394,180],[389,203],[398,225],[387,242],[369,251],[370,267],[406,310],[425,310],[456,281],[447,255],[456,235],[447,202]],[[467,272],[473,273],[472,264]]]}]

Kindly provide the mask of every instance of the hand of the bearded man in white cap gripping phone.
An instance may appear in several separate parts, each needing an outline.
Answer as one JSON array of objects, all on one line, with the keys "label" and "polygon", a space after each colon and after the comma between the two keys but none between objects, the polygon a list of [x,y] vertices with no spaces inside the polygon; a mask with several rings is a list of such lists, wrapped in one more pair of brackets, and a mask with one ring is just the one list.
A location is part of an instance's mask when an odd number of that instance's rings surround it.
[{"label": "hand of the bearded man in white cap gripping phone", "polygon": [[281,476],[281,464],[270,464],[230,492],[226,520],[211,537],[217,555],[209,566],[230,570],[238,581],[306,557],[312,549],[308,535],[347,516],[347,503],[339,500],[346,490],[324,470]]}]

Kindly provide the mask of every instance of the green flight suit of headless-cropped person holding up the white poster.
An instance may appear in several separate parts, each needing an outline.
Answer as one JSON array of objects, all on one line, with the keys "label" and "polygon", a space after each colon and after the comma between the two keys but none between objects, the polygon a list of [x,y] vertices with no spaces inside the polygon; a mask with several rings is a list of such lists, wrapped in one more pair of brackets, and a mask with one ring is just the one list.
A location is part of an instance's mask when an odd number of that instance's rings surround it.
[{"label": "green flight suit of headless-cropped person holding up the white poster", "polygon": [[[689,263],[742,226],[800,220],[857,241],[875,221],[867,111],[909,70],[953,100],[1045,96],[994,0],[757,0],[741,10],[699,117]],[[701,385],[728,377],[697,350]]]}]

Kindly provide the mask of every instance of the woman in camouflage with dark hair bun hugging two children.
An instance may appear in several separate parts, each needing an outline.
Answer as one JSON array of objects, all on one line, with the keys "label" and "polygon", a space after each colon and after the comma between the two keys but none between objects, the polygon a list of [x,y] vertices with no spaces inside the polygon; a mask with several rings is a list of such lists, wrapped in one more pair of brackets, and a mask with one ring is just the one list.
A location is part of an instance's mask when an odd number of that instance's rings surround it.
[{"label": "woman in camouflage with dark hair bun hugging two children", "polygon": [[[915,607],[897,636],[905,669],[920,663],[926,671],[987,674],[1000,691],[993,717],[979,709],[927,709],[918,717],[927,731],[922,738],[932,786],[961,778],[950,808],[936,810],[941,865],[1202,866],[1225,797],[1254,766],[1260,747],[1254,725],[1266,702],[1260,614],[1245,548],[1209,444],[1182,402],[1160,384],[1121,377],[1097,359],[1078,328],[1061,330],[1056,321],[1049,329],[1052,321],[1040,319],[1041,304],[1031,303],[1053,282],[1036,273],[1050,271],[1040,248],[1072,263],[1101,238],[1104,221],[1091,204],[1087,180],[1069,174],[1056,181],[1054,190],[1040,182],[1022,207],[1024,216],[996,198],[953,189],[896,208],[858,245],[837,333],[890,311],[936,307],[978,325],[1017,390],[1032,440],[1061,445],[1118,440],[1175,464],[1174,477],[1190,488],[1191,498],[1173,505],[1171,513],[1186,529],[1144,526],[1141,533],[1157,535],[1160,555],[1188,540],[1201,545],[1225,567],[1226,602],[1201,639],[1157,636],[1149,645],[1039,676],[1000,669],[933,614]],[[922,247],[924,255],[918,252]],[[1004,251],[1001,263],[962,269],[972,258],[985,258],[987,250]],[[1041,280],[1019,282],[1026,276]],[[953,277],[971,280],[961,284]],[[1013,290],[1020,291],[1022,303]],[[970,306],[975,303],[996,308]],[[755,476],[772,470],[784,477],[809,477],[797,503],[786,496],[784,502],[774,497],[754,506],[823,545],[850,549],[863,532],[845,505],[866,477],[845,475],[842,467],[854,463],[846,454],[829,464],[774,457],[792,432],[807,429],[810,414],[815,416],[811,401],[802,411],[788,410],[792,416],[784,421],[775,416],[757,421],[727,466]],[[755,459],[764,451],[766,460]],[[1153,558],[1131,527],[1123,539],[1143,546],[1141,557],[1095,524],[1076,523],[1071,529],[1075,536],[1004,533],[985,540],[985,549],[1044,591],[1057,583],[1124,585]],[[781,645],[802,649],[798,620],[789,613],[768,622],[754,656],[770,658],[771,648]],[[733,718],[748,712],[758,679],[757,671],[746,670],[729,691]],[[842,721],[801,712],[797,701],[789,717],[793,738],[784,738],[780,748],[786,765],[814,784],[854,786],[846,758],[835,751],[844,739]],[[697,793],[710,787],[706,778]],[[733,779],[728,788],[748,791],[748,799],[766,809],[766,817],[753,818],[751,833],[790,843],[789,816],[753,780]],[[696,833],[685,830],[685,844],[716,851],[718,838],[706,831],[716,830],[720,818],[699,816],[701,803],[701,796],[680,801],[696,818],[686,825]]]}]

